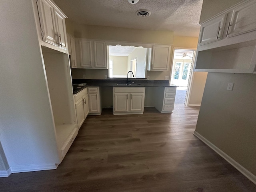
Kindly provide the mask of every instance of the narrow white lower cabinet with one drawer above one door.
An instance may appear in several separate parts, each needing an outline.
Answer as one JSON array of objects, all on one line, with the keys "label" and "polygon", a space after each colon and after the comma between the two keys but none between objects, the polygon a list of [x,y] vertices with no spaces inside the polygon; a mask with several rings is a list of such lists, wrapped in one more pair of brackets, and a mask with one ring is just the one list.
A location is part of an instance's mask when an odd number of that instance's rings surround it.
[{"label": "narrow white lower cabinet with one drawer above one door", "polygon": [[100,88],[89,87],[89,115],[100,115],[102,108],[100,102]]}]

